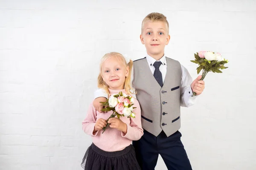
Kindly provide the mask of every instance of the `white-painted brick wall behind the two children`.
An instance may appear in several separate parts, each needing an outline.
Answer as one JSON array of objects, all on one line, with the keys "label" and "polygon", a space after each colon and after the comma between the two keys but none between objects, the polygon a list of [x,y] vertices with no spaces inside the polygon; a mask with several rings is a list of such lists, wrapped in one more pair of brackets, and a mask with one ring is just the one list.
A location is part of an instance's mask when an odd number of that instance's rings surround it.
[{"label": "white-painted brick wall behind the two children", "polygon": [[[144,57],[140,25],[153,11],[170,23],[166,54],[193,78],[196,51],[230,60],[182,108],[193,169],[255,170],[255,9],[255,0],[0,0],[0,170],[81,169],[99,60],[109,51]],[[162,159],[156,169],[166,170]]]}]

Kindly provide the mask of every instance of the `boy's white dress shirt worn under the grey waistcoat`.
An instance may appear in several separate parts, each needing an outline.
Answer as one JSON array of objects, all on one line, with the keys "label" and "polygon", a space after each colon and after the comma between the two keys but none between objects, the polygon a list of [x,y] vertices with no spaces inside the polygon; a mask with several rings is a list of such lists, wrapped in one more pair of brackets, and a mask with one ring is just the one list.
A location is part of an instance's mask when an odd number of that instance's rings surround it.
[{"label": "boy's white dress shirt worn under the grey waistcoat", "polygon": [[[157,60],[154,59],[153,57],[150,57],[149,55],[147,55],[146,59],[147,59],[148,66],[149,66],[152,74],[154,74],[155,68],[154,68],[153,64]],[[164,80],[166,78],[166,71],[167,71],[166,57],[163,56],[158,61],[162,62],[159,70],[162,73],[162,78],[163,78],[163,83],[164,83]],[[195,99],[197,96],[192,96],[193,92],[192,92],[192,89],[190,86],[192,83],[192,77],[190,76],[188,70],[183,65],[181,65],[181,74],[182,74],[182,77],[181,77],[181,87],[180,87],[180,94],[181,94],[180,106],[189,107],[191,105],[194,105]],[[132,71],[131,71],[131,82],[133,81],[133,77],[134,77],[134,68],[132,68]],[[134,96],[136,98],[135,94],[132,96]],[[98,97],[108,98],[108,94],[103,89],[98,88],[94,93],[94,98],[96,99]]]}]

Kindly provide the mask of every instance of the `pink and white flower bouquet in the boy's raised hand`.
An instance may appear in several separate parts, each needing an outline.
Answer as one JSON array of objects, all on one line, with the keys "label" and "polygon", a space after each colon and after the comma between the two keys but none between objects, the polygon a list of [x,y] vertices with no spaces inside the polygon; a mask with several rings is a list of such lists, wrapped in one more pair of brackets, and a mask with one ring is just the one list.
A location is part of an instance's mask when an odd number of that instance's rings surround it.
[{"label": "pink and white flower bouquet in the boy's raised hand", "polygon": [[[227,59],[224,59],[220,53],[214,53],[212,51],[199,51],[195,54],[195,60],[190,60],[199,65],[197,69],[197,74],[203,70],[202,78],[203,80],[208,72],[212,71],[213,73],[222,73],[220,69],[225,69],[228,67],[224,67],[224,64],[228,62]],[[193,96],[196,93],[193,92]]]}]

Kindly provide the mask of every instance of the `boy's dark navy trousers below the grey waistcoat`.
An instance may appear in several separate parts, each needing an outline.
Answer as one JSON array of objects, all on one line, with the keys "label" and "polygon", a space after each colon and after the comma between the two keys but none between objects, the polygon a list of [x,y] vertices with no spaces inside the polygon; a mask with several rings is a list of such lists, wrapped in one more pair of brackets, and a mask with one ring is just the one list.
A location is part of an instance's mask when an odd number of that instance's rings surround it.
[{"label": "boy's dark navy trousers below the grey waistcoat", "polygon": [[162,131],[156,137],[144,129],[141,139],[133,141],[141,169],[154,170],[160,154],[168,170],[192,170],[180,137],[179,131],[169,137]]}]

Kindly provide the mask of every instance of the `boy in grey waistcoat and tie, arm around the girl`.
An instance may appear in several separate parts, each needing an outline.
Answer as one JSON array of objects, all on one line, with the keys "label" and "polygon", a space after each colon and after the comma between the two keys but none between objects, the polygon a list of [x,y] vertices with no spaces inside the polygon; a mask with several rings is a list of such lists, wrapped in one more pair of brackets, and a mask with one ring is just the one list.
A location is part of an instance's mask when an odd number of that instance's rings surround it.
[{"label": "boy in grey waistcoat and tie, arm around the girl", "polygon": [[[148,14],[141,28],[140,40],[147,56],[134,61],[133,86],[140,102],[144,135],[133,141],[136,157],[143,170],[154,170],[160,154],[169,170],[192,170],[180,141],[180,106],[194,104],[204,90],[201,76],[192,82],[189,72],[174,59],[164,55],[170,40],[169,23],[163,14]],[[192,82],[192,83],[191,83]],[[94,107],[100,110],[100,101],[106,98],[97,90]],[[97,98],[99,97],[99,98]]]}]

